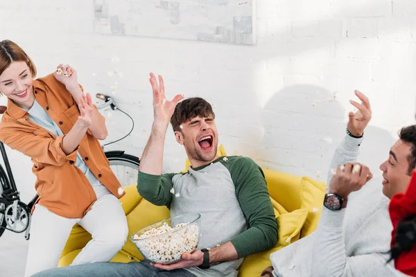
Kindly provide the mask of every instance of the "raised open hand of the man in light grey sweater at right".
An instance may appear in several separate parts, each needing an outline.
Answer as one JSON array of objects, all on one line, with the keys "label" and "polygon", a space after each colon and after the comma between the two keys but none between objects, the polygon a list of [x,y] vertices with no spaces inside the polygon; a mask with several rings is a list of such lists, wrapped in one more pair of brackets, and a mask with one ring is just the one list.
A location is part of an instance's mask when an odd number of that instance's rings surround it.
[{"label": "raised open hand of the man in light grey sweater at right", "polygon": [[371,107],[370,101],[368,100],[367,96],[360,91],[355,91],[356,96],[360,98],[361,103],[358,103],[354,100],[350,100],[352,105],[358,109],[355,113],[353,111],[349,111],[349,121],[347,124],[347,129],[351,134],[354,136],[363,136],[364,129],[367,127],[368,123],[371,119]]}]

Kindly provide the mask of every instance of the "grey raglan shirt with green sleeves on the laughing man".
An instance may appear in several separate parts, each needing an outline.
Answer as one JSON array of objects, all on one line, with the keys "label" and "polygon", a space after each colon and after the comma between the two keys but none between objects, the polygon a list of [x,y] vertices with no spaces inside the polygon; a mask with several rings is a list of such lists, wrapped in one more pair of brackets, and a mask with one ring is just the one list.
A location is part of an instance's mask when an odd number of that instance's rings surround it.
[{"label": "grey raglan shirt with green sleeves on the laughing man", "polygon": [[[175,190],[175,195],[171,193]],[[277,243],[277,222],[263,171],[246,157],[220,157],[186,173],[148,175],[139,172],[137,190],[171,216],[200,213],[198,248],[214,248],[231,241],[238,260],[187,268],[196,276],[237,276],[245,256]]]}]

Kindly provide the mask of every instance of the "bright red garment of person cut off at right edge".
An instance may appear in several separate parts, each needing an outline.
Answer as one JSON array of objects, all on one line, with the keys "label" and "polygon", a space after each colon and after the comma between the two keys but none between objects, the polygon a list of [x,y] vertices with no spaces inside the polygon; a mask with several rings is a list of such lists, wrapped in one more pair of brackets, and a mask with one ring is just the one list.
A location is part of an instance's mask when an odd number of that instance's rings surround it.
[{"label": "bright red garment of person cut off at right edge", "polygon": [[[392,197],[389,211],[393,224],[393,239],[400,220],[416,213],[416,170],[413,170],[412,179],[410,179],[406,193],[397,193]],[[401,253],[399,258],[395,260],[395,267],[404,274],[416,276],[416,245],[410,251]]]}]

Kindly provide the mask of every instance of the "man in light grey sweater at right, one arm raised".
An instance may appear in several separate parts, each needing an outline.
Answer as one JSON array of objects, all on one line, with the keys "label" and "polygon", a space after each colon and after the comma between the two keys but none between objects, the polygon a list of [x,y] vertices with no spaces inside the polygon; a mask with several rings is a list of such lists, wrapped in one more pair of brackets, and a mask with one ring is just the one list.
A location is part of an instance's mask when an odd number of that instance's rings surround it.
[{"label": "man in light grey sweater at right, one arm raised", "polygon": [[347,136],[331,161],[318,229],[270,255],[275,277],[404,276],[386,265],[392,231],[388,204],[406,190],[415,168],[416,126],[401,129],[400,139],[386,151],[388,160],[380,166],[383,188],[380,182],[367,183],[372,173],[356,160],[371,109],[363,93],[356,95],[362,102],[351,101],[358,111],[349,113]]}]

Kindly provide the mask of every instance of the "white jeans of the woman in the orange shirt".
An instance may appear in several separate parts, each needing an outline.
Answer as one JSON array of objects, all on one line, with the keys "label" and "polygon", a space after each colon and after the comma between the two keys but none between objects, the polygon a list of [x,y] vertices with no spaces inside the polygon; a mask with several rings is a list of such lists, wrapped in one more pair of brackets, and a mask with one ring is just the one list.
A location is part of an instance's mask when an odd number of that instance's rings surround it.
[{"label": "white jeans of the woman in the orange shirt", "polygon": [[128,236],[123,208],[114,195],[104,193],[81,219],[69,219],[52,213],[37,204],[32,216],[31,239],[25,277],[58,266],[58,262],[74,224],[92,234],[71,265],[109,262],[123,247]]}]

